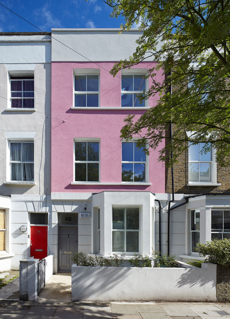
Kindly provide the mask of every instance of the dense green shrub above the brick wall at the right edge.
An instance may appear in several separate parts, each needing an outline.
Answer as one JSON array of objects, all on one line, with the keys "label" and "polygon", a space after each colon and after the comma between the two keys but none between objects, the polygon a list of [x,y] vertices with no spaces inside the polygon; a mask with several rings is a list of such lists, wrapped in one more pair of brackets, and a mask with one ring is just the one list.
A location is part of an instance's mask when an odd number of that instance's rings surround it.
[{"label": "dense green shrub above the brick wall at the right edge", "polygon": [[196,244],[196,251],[203,255],[205,262],[230,267],[230,239],[214,239],[206,244]]}]

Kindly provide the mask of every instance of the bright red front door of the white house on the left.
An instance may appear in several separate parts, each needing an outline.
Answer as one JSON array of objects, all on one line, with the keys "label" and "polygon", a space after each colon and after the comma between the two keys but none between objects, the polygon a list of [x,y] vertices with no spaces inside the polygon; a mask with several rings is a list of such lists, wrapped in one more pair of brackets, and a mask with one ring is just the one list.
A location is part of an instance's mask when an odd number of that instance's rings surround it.
[{"label": "bright red front door of the white house on the left", "polygon": [[30,256],[45,258],[47,256],[47,226],[30,226]]}]

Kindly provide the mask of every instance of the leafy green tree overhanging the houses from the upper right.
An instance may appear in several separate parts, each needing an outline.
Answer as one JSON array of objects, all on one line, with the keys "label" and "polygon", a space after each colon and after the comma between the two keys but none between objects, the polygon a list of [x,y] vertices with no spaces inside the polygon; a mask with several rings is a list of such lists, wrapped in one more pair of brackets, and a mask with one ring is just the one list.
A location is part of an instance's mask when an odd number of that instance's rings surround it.
[{"label": "leafy green tree overhanging the houses from the upper right", "polygon": [[[204,142],[203,152],[209,151],[211,143],[217,149],[218,163],[229,165],[230,1],[103,1],[113,8],[112,17],[124,17],[121,30],[135,24],[143,30],[136,41],[136,52],[129,60],[116,63],[111,74],[115,76],[120,69],[138,64],[146,56],[158,62],[149,70],[153,85],[142,99],[156,94],[160,98],[139,120],[127,116],[121,137],[128,140],[140,134],[142,139],[137,145],[144,146],[149,139],[150,147],[155,149],[163,139],[170,139],[167,125],[172,121],[173,142],[165,143],[160,160],[165,161],[167,151],[173,150],[175,162],[189,141]],[[167,75],[163,83],[155,80],[156,70],[161,69]],[[143,134],[146,128],[147,133]],[[190,131],[196,133],[187,135]]]}]

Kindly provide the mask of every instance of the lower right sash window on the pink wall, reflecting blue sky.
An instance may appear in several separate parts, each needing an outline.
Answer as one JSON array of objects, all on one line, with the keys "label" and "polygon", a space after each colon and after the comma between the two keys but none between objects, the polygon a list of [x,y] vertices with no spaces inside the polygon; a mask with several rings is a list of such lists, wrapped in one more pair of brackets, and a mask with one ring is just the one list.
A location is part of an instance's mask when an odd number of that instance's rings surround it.
[{"label": "lower right sash window on the pink wall, reflecting blue sky", "polygon": [[146,182],[146,155],[136,142],[122,142],[122,182]]}]

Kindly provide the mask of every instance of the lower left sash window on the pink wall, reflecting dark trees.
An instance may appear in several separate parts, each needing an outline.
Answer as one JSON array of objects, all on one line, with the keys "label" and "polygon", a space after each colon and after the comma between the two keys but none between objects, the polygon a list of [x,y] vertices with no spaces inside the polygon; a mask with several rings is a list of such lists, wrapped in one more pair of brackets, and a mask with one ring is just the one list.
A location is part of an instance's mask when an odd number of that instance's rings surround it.
[{"label": "lower left sash window on the pink wall, reflecting dark trees", "polygon": [[99,142],[75,142],[75,181],[99,182]]}]

